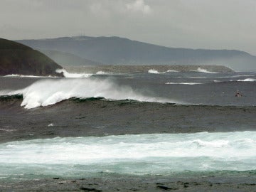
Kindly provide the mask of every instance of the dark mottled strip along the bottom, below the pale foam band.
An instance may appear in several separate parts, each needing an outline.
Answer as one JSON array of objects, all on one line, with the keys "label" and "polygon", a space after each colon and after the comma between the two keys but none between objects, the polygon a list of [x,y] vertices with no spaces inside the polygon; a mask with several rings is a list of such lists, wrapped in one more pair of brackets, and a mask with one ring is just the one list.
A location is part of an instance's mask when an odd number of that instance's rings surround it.
[{"label": "dark mottled strip along the bottom, below the pale foam band", "polygon": [[3,181],[0,191],[254,191],[255,172],[181,173],[172,176],[106,174],[89,178],[48,177]]}]

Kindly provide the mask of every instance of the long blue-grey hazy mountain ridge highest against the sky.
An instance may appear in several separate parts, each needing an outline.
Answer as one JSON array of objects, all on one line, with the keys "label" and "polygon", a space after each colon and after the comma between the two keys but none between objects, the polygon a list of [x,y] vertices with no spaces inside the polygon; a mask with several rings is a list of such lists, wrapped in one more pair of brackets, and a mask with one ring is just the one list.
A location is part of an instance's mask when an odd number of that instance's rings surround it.
[{"label": "long blue-grey hazy mountain ridge highest against the sky", "polygon": [[239,50],[167,48],[119,37],[78,36],[18,42],[108,65],[227,65],[237,70],[256,69],[256,57]]}]

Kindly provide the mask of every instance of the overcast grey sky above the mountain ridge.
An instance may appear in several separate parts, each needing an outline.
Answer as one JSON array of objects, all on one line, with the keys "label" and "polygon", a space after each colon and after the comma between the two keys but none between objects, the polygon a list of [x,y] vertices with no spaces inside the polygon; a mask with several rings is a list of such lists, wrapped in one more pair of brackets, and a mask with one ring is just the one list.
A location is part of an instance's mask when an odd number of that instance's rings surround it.
[{"label": "overcast grey sky above the mountain ridge", "polygon": [[120,36],[256,55],[256,0],[0,0],[0,37]]}]

